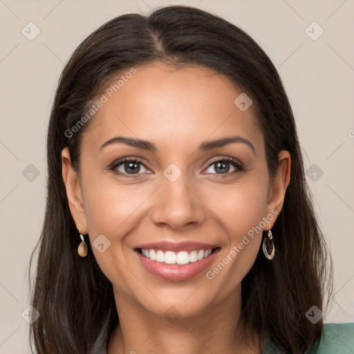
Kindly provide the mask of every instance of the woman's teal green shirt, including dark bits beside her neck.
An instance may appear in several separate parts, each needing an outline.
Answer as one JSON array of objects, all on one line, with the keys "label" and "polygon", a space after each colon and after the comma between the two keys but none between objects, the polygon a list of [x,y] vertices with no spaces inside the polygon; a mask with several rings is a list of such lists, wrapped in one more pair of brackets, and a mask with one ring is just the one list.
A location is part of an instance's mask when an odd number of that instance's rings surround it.
[{"label": "woman's teal green shirt, including dark bits beside her neck", "polygon": [[[104,331],[95,343],[92,354],[107,354],[102,338]],[[263,340],[262,354],[283,354],[269,339]],[[354,323],[351,324],[325,324],[322,337],[304,354],[354,354]]]}]

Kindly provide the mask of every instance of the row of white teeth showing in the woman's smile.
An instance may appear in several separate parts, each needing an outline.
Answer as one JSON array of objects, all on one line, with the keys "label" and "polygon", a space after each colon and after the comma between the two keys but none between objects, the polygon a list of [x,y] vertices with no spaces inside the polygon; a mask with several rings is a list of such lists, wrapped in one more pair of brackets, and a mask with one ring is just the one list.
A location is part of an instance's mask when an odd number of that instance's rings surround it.
[{"label": "row of white teeth showing in the woman's smile", "polygon": [[166,251],[162,250],[145,250],[142,248],[141,254],[144,257],[151,259],[151,261],[157,261],[160,263],[166,264],[188,264],[192,262],[201,261],[204,258],[207,258],[212,254],[212,250],[194,250],[191,252],[180,251]]}]

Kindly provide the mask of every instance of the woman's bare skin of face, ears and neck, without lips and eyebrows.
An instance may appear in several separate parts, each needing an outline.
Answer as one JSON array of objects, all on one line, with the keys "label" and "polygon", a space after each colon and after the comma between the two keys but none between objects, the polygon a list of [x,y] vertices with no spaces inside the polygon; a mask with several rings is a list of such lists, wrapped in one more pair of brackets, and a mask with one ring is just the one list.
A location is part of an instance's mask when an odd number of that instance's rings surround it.
[{"label": "woman's bare skin of face, ears and neck, without lips and eyebrows", "polygon": [[[62,151],[62,176],[77,230],[88,233],[91,243],[100,234],[111,242],[102,253],[93,247],[113,284],[120,316],[109,354],[261,352],[252,328],[246,338],[254,335],[254,345],[246,348],[240,321],[241,280],[257,257],[261,232],[212,280],[205,272],[186,281],[159,279],[134,252],[136,245],[162,240],[212,243],[221,248],[207,269],[212,270],[263,217],[280,212],[290,154],[279,152],[279,172],[270,178],[252,106],[241,111],[234,104],[241,92],[207,68],[139,67],[84,132],[80,176],[71,167],[68,148]],[[230,135],[249,140],[255,153],[240,142],[198,151],[205,140]],[[115,136],[149,140],[157,150],[123,143],[100,149]],[[120,174],[109,170],[124,157],[142,161],[139,174],[129,174],[124,163],[116,167]],[[223,174],[212,164],[227,157],[242,162],[244,170],[226,162],[223,168],[229,171]],[[171,163],[182,173],[173,183],[163,174]],[[263,230],[269,230],[268,223]],[[180,315],[174,323],[165,317],[171,306]]]}]

